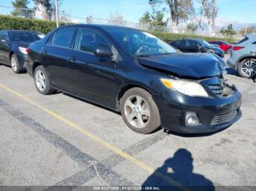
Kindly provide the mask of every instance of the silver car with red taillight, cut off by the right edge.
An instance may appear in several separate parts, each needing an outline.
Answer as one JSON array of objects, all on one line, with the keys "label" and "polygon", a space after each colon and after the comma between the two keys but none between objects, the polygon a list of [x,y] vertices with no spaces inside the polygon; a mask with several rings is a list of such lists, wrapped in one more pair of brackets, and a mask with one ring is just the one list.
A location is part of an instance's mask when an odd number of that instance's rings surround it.
[{"label": "silver car with red taillight, cut off by the right edge", "polygon": [[227,65],[236,69],[241,77],[255,77],[256,34],[247,34],[244,39],[234,44]]}]

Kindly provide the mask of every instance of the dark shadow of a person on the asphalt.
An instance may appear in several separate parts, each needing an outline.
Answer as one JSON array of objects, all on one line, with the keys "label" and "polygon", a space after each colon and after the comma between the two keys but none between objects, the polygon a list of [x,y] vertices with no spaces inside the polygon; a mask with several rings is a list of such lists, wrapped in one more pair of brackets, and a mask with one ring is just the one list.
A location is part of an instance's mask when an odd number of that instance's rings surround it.
[{"label": "dark shadow of a person on the asphalt", "polygon": [[[187,149],[178,149],[172,158],[157,168],[143,183],[142,187],[159,187],[160,190],[215,190],[214,184],[205,176],[193,173],[193,158]],[[166,180],[167,179],[167,180]],[[174,187],[178,183],[181,187]],[[150,188],[149,188],[150,189]]]}]

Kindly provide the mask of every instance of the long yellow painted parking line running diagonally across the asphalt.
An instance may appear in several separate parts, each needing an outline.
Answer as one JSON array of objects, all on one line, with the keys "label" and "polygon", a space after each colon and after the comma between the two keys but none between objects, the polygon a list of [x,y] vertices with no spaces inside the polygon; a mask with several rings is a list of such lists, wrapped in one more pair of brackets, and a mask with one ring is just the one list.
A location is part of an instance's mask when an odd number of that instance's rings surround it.
[{"label": "long yellow painted parking line running diagonally across the asphalt", "polygon": [[32,101],[30,98],[27,98],[25,95],[22,95],[15,90],[12,90],[10,87],[6,87],[5,85],[0,84],[0,87],[4,90],[7,90],[18,97],[22,98],[23,100],[29,102],[29,104],[33,106],[37,106],[37,108],[41,109],[42,111],[50,114],[51,116],[55,117],[56,119],[60,120],[61,122],[64,122],[65,124],[69,125],[72,128],[75,128],[76,130],[79,130],[80,133],[83,133],[83,135],[88,136],[89,138],[93,139],[94,141],[97,141],[99,144],[102,144],[104,147],[110,149],[113,152],[116,152],[121,157],[124,157],[125,159],[129,160],[130,162],[134,163],[135,165],[138,165],[140,168],[148,171],[150,174],[154,174],[155,176],[158,176],[161,179],[164,179],[169,184],[180,188],[181,190],[188,190],[187,187],[183,187],[181,184],[176,182],[173,179],[170,179],[170,177],[165,176],[164,174],[155,171],[154,168],[152,168],[149,165],[146,165],[145,163],[140,162],[140,160],[136,159],[135,157],[132,157],[131,155],[127,154],[126,152],[123,152],[121,149],[118,149],[117,147],[113,146],[112,144],[109,144],[107,141],[100,139],[98,136],[94,136],[94,134],[90,133],[88,130],[85,130],[81,128],[80,126],[76,125],[74,122],[71,122],[64,117],[61,117],[59,114],[56,114],[56,112],[52,112],[49,109],[46,109],[44,106],[41,106],[37,104],[36,102]]}]

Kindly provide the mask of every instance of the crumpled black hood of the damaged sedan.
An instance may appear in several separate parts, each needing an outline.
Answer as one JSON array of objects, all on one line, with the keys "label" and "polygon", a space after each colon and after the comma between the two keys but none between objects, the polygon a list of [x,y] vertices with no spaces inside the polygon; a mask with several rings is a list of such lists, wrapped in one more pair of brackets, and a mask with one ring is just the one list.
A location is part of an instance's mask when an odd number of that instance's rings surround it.
[{"label": "crumpled black hood of the damaged sedan", "polygon": [[143,66],[169,71],[179,77],[216,77],[221,75],[220,61],[211,54],[153,55],[138,58]]}]

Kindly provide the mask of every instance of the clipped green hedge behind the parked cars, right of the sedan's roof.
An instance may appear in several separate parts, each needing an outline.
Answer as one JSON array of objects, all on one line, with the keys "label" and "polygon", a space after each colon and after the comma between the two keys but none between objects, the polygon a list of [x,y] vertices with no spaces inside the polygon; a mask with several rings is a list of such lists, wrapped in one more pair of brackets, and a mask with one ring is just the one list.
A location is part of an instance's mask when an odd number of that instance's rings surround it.
[{"label": "clipped green hedge behind the parked cars, right of the sedan's roof", "polygon": [[150,33],[154,34],[154,36],[159,37],[165,42],[170,42],[177,39],[188,39],[188,38],[205,39],[206,41],[212,41],[212,40],[218,39],[218,40],[224,40],[229,43],[233,43],[235,40],[232,38],[217,38],[214,36],[200,36],[200,35],[193,35],[193,34],[172,34],[172,33],[162,33],[162,32],[155,32],[155,31],[150,31]]}]

